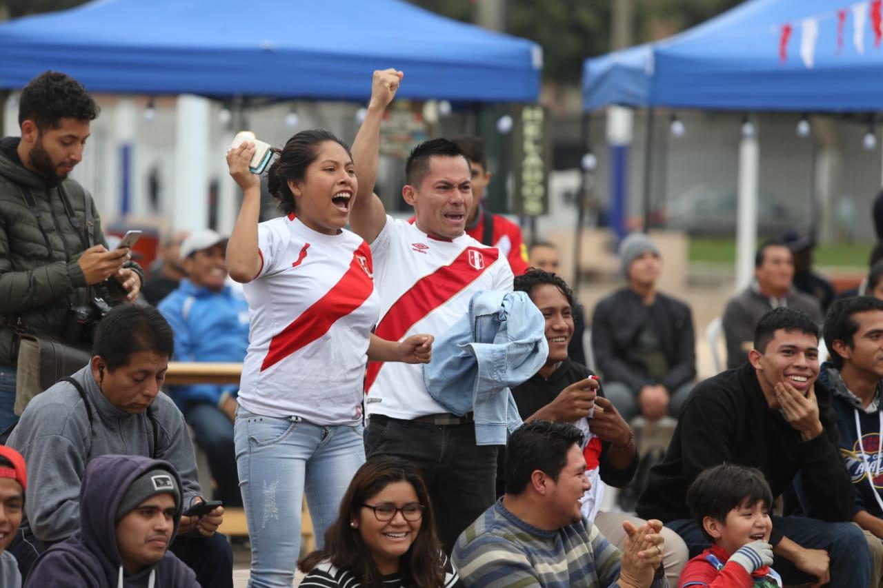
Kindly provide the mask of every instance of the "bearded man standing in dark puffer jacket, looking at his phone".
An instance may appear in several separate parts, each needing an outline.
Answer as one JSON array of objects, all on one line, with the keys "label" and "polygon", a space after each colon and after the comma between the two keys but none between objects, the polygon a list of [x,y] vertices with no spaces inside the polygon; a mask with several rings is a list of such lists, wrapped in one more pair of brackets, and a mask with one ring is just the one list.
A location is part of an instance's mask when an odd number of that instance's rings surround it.
[{"label": "bearded man standing in dark puffer jacket, looking at his phone", "polygon": [[21,138],[0,139],[0,431],[16,421],[17,333],[87,345],[109,303],[138,298],[140,268],[108,250],[92,196],[68,177],[98,112],[75,79],[44,72],[19,97]]}]

